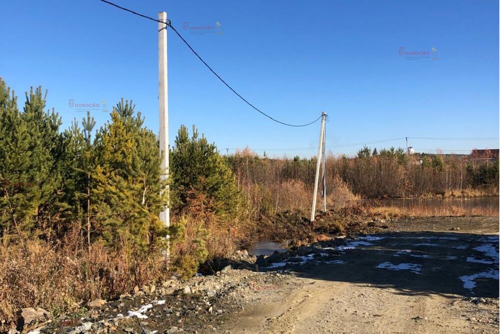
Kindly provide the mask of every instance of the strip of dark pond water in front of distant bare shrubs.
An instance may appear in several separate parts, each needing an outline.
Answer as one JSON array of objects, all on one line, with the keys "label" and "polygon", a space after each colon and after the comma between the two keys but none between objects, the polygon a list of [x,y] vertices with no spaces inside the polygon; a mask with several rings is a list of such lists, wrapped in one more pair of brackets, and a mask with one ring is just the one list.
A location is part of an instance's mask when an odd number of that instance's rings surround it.
[{"label": "strip of dark pond water in front of distant bare shrubs", "polygon": [[439,209],[460,207],[463,209],[495,209],[498,210],[498,197],[472,197],[472,198],[410,198],[410,199],[382,199],[372,201],[374,206],[389,206],[401,209],[415,207]]}]

